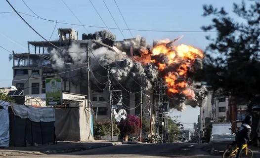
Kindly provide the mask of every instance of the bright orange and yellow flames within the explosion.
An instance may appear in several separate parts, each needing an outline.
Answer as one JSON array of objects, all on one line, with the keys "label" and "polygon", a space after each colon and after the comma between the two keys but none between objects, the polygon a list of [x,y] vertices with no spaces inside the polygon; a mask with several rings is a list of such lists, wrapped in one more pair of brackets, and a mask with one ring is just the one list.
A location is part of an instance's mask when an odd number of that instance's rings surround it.
[{"label": "bright orange and yellow flames within the explosion", "polygon": [[[179,64],[176,72],[166,74],[165,81],[169,86],[168,92],[175,94],[184,94],[188,99],[194,98],[194,91],[189,87],[190,82],[187,81],[187,72],[193,65],[194,60],[203,59],[203,52],[200,49],[194,48],[190,45],[180,44],[177,46],[168,45],[167,43],[156,45],[152,49],[152,55],[156,56],[163,54],[168,57],[168,66],[161,64],[160,61],[150,60],[151,63],[157,63],[159,70],[163,71],[173,64]],[[178,79],[181,78],[181,79]]]}]

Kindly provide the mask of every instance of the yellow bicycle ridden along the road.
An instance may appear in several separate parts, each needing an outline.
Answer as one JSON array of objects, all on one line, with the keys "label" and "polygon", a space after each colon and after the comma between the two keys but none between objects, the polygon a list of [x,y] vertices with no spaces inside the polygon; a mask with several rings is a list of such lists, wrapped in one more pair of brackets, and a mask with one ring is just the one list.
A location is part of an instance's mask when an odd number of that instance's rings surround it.
[{"label": "yellow bicycle ridden along the road", "polygon": [[[234,149],[233,147],[234,145],[232,146],[229,144],[222,158],[235,158],[239,148],[235,146]],[[239,158],[253,158],[253,152],[248,148],[247,144],[242,146],[242,151]]]}]

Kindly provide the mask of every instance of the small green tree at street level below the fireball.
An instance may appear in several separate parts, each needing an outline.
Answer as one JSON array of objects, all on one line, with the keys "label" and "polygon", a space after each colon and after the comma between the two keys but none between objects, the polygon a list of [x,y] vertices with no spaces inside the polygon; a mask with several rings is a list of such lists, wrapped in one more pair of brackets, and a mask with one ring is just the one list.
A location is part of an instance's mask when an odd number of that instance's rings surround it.
[{"label": "small green tree at street level below the fireball", "polygon": [[178,136],[180,135],[179,126],[181,126],[181,124],[179,123],[178,126],[172,118],[167,118],[167,123],[167,128],[169,130],[168,142],[172,143],[176,141],[178,139]]}]

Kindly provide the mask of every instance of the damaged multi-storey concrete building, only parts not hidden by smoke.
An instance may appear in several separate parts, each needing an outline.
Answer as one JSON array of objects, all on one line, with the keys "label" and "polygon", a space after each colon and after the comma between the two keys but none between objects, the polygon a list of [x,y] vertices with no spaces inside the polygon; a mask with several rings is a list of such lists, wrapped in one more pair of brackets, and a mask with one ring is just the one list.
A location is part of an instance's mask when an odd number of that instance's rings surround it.
[{"label": "damaged multi-storey concrete building, only parts not hidden by smoke", "polygon": [[[86,34],[83,34],[83,40],[78,39],[78,32],[74,29],[58,29],[59,40],[53,41],[28,41],[27,53],[15,53],[13,54],[13,81],[12,85],[16,86],[18,90],[23,90],[24,95],[32,94],[44,94],[45,93],[45,79],[60,77],[62,81],[63,92],[76,93],[87,95],[86,82],[74,82],[70,81],[67,76],[63,76],[60,70],[53,68],[56,60],[53,60],[49,55],[49,48],[56,46],[62,49],[68,48],[73,42],[85,43],[89,40],[86,39]],[[92,43],[108,48],[108,50],[122,53],[115,45],[109,43],[105,44],[98,40],[91,40]],[[87,43],[89,44],[89,43]],[[92,46],[92,45],[89,45]],[[32,52],[32,48],[34,50]],[[44,54],[43,54],[44,53]],[[66,70],[64,70],[66,71]],[[59,73],[57,73],[59,72]],[[73,76],[72,76],[73,77]],[[90,85],[91,86],[91,85]],[[117,89],[119,90],[119,89]],[[120,89],[121,90],[121,89]],[[140,114],[140,94],[129,93],[122,88],[122,105],[128,114],[139,115]],[[151,105],[156,104],[154,95],[152,92],[145,92],[150,98],[146,100],[151,101]],[[120,94],[121,95],[121,94]],[[109,92],[107,89],[90,92],[90,100],[93,110],[97,113],[97,120],[105,120],[110,115],[109,104]],[[155,108],[152,108],[152,114],[155,114]],[[148,113],[148,103],[143,103],[144,113]],[[144,115],[145,116],[145,115]],[[149,117],[149,116],[147,116]]]}]

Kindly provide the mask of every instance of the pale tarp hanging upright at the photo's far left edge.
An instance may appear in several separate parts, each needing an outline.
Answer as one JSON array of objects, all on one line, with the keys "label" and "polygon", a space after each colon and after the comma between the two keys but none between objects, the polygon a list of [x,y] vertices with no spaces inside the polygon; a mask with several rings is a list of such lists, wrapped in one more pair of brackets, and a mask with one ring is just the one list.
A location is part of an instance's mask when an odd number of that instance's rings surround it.
[{"label": "pale tarp hanging upright at the photo's far left edge", "polygon": [[9,147],[8,102],[0,100],[0,147]]}]

